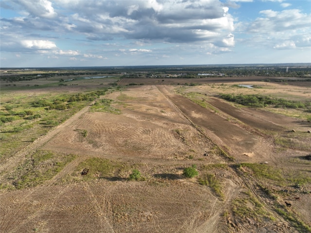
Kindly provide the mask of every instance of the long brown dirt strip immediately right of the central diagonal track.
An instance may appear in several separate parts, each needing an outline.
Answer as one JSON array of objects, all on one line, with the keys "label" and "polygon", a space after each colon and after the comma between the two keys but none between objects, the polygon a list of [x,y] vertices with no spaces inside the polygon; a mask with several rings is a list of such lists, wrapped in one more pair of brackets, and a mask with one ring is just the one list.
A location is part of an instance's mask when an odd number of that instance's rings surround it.
[{"label": "long brown dirt strip immediately right of the central diagonal track", "polygon": [[[168,92],[165,90],[165,86],[159,87],[159,89],[164,90],[163,93]],[[169,92],[167,98],[178,106],[176,108],[179,108],[194,128],[228,154],[234,156],[235,159],[277,162],[273,152],[274,144],[265,137],[252,134],[248,132],[249,130],[227,121],[207,108],[199,108],[188,98]],[[203,127],[203,130],[197,125]]]}]

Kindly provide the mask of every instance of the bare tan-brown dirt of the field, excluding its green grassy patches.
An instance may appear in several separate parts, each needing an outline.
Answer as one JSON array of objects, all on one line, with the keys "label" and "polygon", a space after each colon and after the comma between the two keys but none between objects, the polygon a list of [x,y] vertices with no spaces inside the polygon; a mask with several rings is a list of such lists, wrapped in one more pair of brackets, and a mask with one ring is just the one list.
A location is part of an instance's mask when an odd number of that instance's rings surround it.
[{"label": "bare tan-brown dirt of the field, excluding its green grassy patches", "polygon": [[[223,198],[198,184],[197,179],[185,179],[181,173],[191,164],[197,164],[198,170],[209,164],[231,164],[215,152],[215,145],[235,162],[266,162],[286,169],[291,159],[307,152],[278,151],[267,132],[303,131],[307,127],[294,118],[256,109],[238,109],[216,97],[206,98],[205,101],[221,113],[216,114],[175,94],[174,86],[164,85],[167,80],[149,79],[148,82],[161,85],[149,83],[104,96],[116,101],[114,107],[121,109],[120,115],[93,112],[86,107],[1,164],[2,171],[13,169],[26,153],[38,148],[77,155],[43,185],[3,191],[0,194],[1,231],[297,232],[276,214],[266,198],[259,201],[275,221],[256,222],[247,216],[241,220],[230,215],[232,201],[246,191],[260,196],[256,184],[239,177],[233,168],[211,171],[222,181]],[[228,121],[224,116],[236,121]],[[87,130],[87,137],[81,137],[79,129]],[[209,156],[204,156],[206,151]],[[146,179],[126,181],[131,171],[125,171],[118,179],[83,181],[77,166],[92,157],[137,164]],[[301,166],[310,169],[308,165]],[[291,201],[292,208],[311,225],[310,195],[300,197],[299,201]]]}]

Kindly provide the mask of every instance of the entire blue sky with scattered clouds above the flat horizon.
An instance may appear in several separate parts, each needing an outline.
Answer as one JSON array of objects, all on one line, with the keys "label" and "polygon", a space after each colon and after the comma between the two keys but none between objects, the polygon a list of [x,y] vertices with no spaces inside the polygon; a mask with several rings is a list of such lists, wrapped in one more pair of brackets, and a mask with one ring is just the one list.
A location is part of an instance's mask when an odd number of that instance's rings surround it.
[{"label": "entire blue sky with scattered clouds above the flat horizon", "polygon": [[0,0],[0,67],[311,62],[311,0]]}]

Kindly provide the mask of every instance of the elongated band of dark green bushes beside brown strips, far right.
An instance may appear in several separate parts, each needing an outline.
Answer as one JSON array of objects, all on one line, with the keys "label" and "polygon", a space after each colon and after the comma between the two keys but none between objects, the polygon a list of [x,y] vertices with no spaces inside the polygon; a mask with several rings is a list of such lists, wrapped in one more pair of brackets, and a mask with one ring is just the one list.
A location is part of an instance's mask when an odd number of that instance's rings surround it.
[{"label": "elongated band of dark green bushes beside brown strips, far right", "polygon": [[252,107],[266,107],[266,106],[274,106],[276,108],[307,108],[311,109],[311,101],[306,101],[304,103],[300,101],[293,100],[285,100],[282,98],[271,98],[263,95],[252,95],[252,94],[221,94],[221,98],[235,102],[244,106],[252,106]]}]

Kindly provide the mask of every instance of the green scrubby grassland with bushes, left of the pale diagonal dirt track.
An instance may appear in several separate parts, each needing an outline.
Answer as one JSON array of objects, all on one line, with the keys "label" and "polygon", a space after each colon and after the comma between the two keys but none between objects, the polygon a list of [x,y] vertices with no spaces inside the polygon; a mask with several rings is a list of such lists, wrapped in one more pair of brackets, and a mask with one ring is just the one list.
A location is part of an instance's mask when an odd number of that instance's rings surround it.
[{"label": "green scrubby grassland with bushes, left of the pale diagonal dirt track", "polygon": [[[106,91],[104,89],[73,94],[34,93],[30,96],[5,94],[3,102],[0,103],[0,161],[13,156],[18,150],[86,107],[90,101],[104,95]],[[116,109],[113,111],[118,112]]]}]

